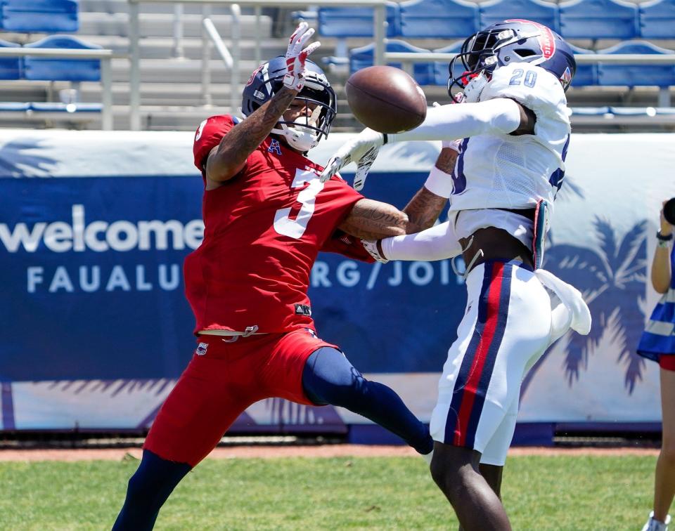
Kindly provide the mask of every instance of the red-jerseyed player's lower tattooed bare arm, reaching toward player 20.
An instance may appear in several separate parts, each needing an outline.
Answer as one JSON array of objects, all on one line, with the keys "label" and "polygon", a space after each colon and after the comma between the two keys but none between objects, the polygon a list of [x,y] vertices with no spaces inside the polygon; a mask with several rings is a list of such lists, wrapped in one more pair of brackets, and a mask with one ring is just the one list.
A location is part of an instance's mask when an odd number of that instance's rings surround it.
[{"label": "red-jerseyed player's lower tattooed bare arm, reaching toward player 20", "polygon": [[[455,150],[444,148],[438,156],[436,167],[451,173],[456,159]],[[420,188],[403,211],[387,203],[361,199],[354,204],[339,228],[361,240],[379,240],[420,232],[435,223],[447,200],[424,187]]]}]

